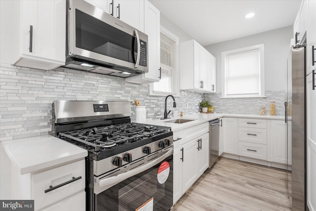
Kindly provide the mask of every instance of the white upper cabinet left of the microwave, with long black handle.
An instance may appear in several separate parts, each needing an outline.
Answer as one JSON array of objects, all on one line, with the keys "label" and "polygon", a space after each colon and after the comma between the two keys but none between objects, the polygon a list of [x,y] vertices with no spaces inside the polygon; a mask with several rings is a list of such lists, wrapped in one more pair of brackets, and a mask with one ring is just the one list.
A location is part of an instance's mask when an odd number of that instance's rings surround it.
[{"label": "white upper cabinet left of the microwave, with long black handle", "polygon": [[65,65],[66,1],[14,0],[12,4],[13,65],[42,70]]}]

